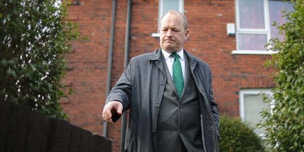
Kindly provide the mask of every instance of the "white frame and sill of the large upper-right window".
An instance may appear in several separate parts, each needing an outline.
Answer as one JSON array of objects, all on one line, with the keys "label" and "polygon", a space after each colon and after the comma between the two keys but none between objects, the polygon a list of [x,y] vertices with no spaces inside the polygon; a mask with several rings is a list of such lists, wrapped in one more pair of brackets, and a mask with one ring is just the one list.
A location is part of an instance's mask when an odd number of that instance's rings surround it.
[{"label": "white frame and sill of the large upper-right window", "polygon": [[[238,47],[239,43],[239,34],[266,34],[267,35],[267,42],[271,39],[270,35],[270,17],[269,17],[269,6],[268,6],[268,0],[263,0],[263,6],[264,6],[264,23],[265,27],[264,29],[242,29],[240,28],[240,11],[239,11],[239,0],[235,0],[235,16],[236,16],[236,49],[233,50],[232,54],[265,54],[265,55],[270,55],[273,53],[276,53],[272,50],[240,50]],[[265,44],[265,45],[266,45]],[[268,46],[269,48],[270,46]]]}]

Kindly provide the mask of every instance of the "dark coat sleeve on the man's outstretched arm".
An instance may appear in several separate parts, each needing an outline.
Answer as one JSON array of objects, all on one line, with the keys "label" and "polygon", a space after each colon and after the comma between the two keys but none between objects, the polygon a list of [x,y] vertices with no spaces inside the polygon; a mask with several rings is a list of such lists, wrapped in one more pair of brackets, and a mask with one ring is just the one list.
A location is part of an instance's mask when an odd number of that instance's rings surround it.
[{"label": "dark coat sleeve on the man's outstretched arm", "polygon": [[[122,73],[122,76],[116,82],[115,86],[109,92],[106,98],[106,104],[117,100],[120,101],[123,105],[122,112],[128,110],[131,104],[131,93],[132,93],[132,62],[130,61],[126,70]],[[118,114],[113,114],[112,120],[116,122],[121,116]]]}]

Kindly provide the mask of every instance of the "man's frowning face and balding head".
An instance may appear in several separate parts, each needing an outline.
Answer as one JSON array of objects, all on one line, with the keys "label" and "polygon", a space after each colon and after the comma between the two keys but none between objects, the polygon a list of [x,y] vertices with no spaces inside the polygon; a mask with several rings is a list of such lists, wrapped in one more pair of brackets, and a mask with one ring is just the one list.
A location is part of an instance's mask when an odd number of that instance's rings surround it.
[{"label": "man's frowning face and balding head", "polygon": [[160,24],[160,46],[167,52],[177,52],[182,50],[183,43],[187,40],[189,30],[183,27],[184,20],[181,15],[168,13]]}]

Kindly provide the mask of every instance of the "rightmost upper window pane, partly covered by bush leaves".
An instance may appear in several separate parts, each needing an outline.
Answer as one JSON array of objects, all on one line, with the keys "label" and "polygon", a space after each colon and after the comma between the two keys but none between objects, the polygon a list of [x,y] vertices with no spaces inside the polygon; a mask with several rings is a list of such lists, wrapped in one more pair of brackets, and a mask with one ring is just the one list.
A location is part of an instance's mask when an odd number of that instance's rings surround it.
[{"label": "rightmost upper window pane, partly covered by bush leaves", "polygon": [[279,32],[277,30],[277,27],[272,26],[274,21],[276,23],[279,23],[280,25],[287,22],[287,19],[285,17],[282,17],[284,15],[282,13],[283,10],[287,10],[286,12],[290,12],[293,10],[293,4],[289,2],[282,2],[278,0],[269,0],[269,17],[270,17],[270,34],[271,38],[278,37],[280,41],[283,40],[282,35],[278,35]]}]

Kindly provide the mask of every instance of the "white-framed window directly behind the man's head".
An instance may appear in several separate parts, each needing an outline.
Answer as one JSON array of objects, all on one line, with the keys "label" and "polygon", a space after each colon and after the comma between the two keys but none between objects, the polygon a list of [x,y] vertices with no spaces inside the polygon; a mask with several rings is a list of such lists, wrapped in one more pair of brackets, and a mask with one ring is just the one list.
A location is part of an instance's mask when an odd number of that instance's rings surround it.
[{"label": "white-framed window directly behind the man's head", "polygon": [[157,33],[152,33],[152,37],[159,37],[160,18],[169,10],[177,10],[183,14],[183,0],[159,0]]}]

